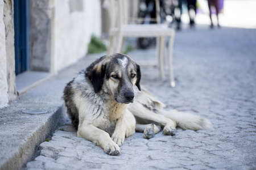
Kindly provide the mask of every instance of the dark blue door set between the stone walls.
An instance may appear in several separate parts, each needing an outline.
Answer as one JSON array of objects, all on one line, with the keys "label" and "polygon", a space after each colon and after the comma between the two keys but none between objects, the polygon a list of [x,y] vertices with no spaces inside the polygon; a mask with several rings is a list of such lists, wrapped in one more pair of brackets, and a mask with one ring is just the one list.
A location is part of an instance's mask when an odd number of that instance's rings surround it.
[{"label": "dark blue door set between the stone walls", "polygon": [[29,0],[14,0],[15,74],[30,69]]}]

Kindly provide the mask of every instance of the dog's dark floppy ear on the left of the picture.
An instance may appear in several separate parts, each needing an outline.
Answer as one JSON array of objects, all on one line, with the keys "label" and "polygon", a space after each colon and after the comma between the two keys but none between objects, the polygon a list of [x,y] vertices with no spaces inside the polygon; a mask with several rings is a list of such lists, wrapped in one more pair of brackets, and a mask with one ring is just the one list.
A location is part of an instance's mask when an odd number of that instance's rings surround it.
[{"label": "dog's dark floppy ear on the left of the picture", "polygon": [[104,76],[106,72],[106,63],[102,62],[104,61],[104,57],[94,61],[85,71],[85,76],[90,80],[90,82],[92,82],[94,92],[96,94],[101,91],[104,83]]}]

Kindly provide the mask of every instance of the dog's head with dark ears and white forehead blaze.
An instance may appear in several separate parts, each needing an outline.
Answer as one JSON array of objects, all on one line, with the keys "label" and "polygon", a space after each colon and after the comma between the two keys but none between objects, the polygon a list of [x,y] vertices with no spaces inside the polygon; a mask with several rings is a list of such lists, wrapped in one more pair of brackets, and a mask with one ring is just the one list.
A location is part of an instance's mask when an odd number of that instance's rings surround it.
[{"label": "dog's head with dark ears and white forehead blaze", "polygon": [[113,54],[94,61],[85,72],[92,83],[94,92],[106,86],[118,103],[133,103],[136,85],[139,90],[141,70],[133,59],[125,54]]}]

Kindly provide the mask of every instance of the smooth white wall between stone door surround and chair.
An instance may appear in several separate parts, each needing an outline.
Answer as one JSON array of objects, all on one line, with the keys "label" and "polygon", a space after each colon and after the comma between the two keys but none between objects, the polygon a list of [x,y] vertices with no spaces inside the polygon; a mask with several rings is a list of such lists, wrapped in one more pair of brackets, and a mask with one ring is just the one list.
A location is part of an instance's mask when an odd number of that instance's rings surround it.
[{"label": "smooth white wall between stone door surround and chair", "polygon": [[53,72],[57,73],[85,57],[92,34],[101,35],[100,0],[56,0],[53,27]]}]

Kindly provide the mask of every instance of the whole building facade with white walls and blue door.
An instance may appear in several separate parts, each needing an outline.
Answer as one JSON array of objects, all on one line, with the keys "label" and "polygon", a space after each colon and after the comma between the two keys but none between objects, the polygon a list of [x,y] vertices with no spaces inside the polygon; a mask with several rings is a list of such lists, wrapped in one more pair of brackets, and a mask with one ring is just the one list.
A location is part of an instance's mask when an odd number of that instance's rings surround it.
[{"label": "whole building facade with white walls and blue door", "polygon": [[0,0],[0,108],[26,71],[56,74],[85,57],[101,36],[100,0]]}]

